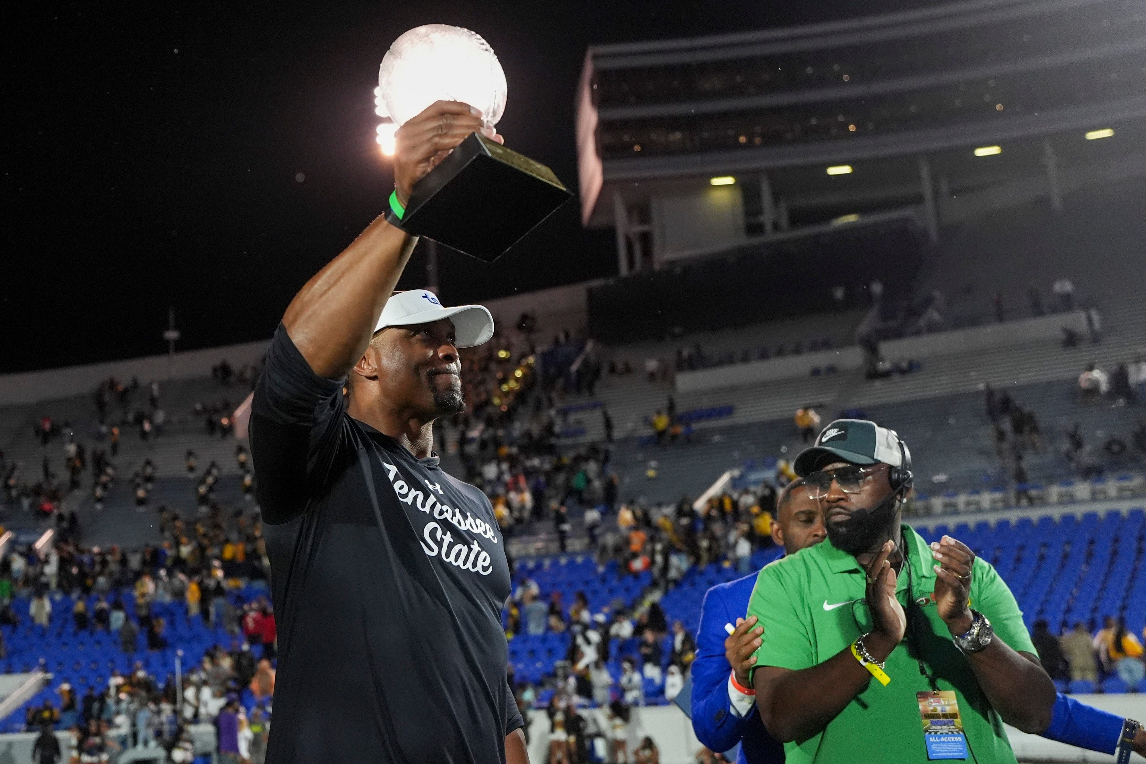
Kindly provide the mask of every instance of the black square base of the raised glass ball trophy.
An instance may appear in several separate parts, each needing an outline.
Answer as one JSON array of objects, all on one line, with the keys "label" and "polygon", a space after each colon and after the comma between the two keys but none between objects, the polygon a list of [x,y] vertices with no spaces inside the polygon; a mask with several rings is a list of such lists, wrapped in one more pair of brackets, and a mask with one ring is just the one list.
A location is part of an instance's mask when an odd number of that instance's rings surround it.
[{"label": "black square base of the raised glass ball trophy", "polygon": [[414,187],[402,228],[493,262],[571,196],[549,167],[473,133]]}]

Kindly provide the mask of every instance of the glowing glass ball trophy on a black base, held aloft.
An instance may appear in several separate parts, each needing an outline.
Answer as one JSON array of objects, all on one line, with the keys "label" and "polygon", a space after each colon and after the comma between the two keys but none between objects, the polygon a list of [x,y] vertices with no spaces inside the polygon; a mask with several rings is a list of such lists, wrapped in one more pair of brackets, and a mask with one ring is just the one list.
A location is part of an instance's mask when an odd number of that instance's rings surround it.
[{"label": "glowing glass ball trophy on a black base, held aloft", "polygon": [[[375,93],[378,113],[399,127],[435,101],[468,103],[492,127],[505,110],[505,72],[481,36],[426,24],[390,46]],[[549,167],[472,133],[414,186],[401,225],[493,262],[571,196]]]}]

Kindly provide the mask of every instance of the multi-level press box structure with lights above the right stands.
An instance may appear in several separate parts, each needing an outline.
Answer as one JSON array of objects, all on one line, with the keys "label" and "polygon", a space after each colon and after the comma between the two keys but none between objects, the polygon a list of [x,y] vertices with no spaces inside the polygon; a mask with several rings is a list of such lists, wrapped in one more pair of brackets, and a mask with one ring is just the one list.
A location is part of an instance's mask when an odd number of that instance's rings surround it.
[{"label": "multi-level press box structure with lights above the right stands", "polygon": [[1146,8],[971,0],[594,46],[576,107],[582,222],[618,228],[622,274],[642,247],[683,257],[666,196],[738,205],[747,238],[908,207],[937,237],[992,198],[1146,174]]}]

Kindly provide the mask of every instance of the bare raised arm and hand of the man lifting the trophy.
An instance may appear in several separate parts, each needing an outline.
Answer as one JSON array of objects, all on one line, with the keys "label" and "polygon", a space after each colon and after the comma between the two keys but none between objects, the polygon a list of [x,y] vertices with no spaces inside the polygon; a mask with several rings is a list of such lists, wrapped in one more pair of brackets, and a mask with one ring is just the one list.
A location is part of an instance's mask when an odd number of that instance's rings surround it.
[{"label": "bare raised arm and hand of the man lifting the trophy", "polygon": [[[415,183],[481,129],[480,112],[456,101],[439,101],[402,125],[394,151],[399,202],[405,205]],[[362,357],[416,242],[378,216],[295,296],[283,326],[315,375],[342,379]]]}]

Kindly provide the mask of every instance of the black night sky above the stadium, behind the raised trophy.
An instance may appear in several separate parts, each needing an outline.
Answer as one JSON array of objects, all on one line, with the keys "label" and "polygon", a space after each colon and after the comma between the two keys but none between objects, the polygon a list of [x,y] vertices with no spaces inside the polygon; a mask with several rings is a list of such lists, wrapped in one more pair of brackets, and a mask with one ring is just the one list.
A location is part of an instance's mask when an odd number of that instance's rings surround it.
[{"label": "black night sky above the stadium, behind the raised trophy", "polygon": [[[507,144],[575,189],[588,45],[861,9],[877,10],[841,0],[7,7],[0,371],[162,353],[167,306],[180,349],[269,337],[299,286],[383,210],[393,182],[372,89],[410,27],[485,37],[509,81]],[[416,255],[402,285],[424,284],[423,268]],[[453,302],[571,283],[615,271],[613,234],[582,230],[574,199],[496,263],[447,251],[440,268]]]}]

